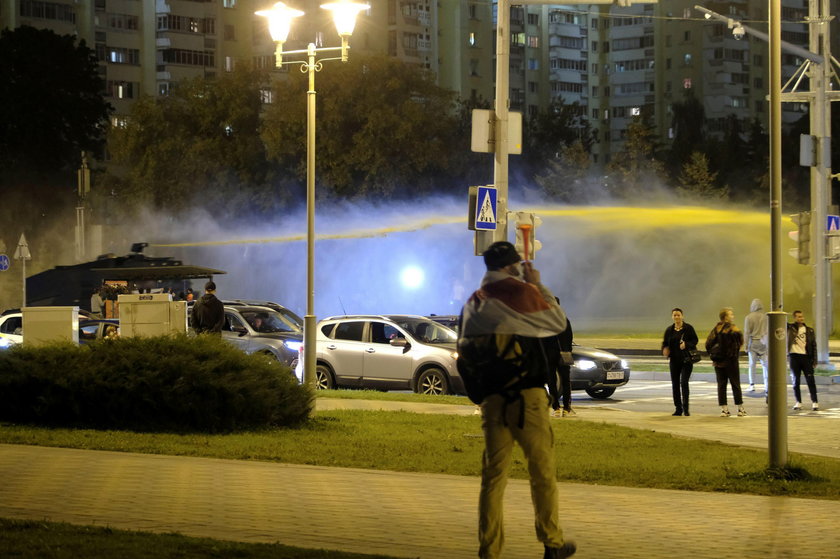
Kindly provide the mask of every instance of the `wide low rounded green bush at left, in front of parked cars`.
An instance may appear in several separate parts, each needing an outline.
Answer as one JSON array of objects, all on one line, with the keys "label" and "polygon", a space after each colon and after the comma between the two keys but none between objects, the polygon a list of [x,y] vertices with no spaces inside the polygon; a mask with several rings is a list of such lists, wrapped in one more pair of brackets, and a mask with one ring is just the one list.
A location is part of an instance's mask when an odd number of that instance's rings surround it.
[{"label": "wide low rounded green bush at left, in front of parked cars", "polygon": [[0,420],[14,423],[219,432],[297,425],[313,402],[288,367],[214,336],[0,352]]}]

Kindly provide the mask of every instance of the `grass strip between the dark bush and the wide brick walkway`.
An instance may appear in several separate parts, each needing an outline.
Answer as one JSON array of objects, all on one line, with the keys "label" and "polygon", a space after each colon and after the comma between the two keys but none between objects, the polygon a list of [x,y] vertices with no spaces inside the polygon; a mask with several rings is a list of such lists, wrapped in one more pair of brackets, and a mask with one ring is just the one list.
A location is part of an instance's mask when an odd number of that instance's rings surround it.
[{"label": "grass strip between the dark bush and the wide brick walkway", "polygon": [[[411,396],[408,394],[407,396]],[[465,399],[460,399],[465,402]],[[604,423],[554,424],[560,481],[840,500],[840,460],[791,454],[806,479],[773,479],[767,453]],[[0,442],[477,476],[478,416],[335,410],[300,429],[171,434],[0,425]],[[526,478],[517,449],[511,475]]]}]

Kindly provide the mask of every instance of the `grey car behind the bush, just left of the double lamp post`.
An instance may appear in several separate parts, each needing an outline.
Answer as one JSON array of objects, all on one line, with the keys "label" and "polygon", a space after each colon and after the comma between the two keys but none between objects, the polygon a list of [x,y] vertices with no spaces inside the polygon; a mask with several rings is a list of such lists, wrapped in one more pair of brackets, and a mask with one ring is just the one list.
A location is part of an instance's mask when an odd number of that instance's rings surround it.
[{"label": "grey car behind the bush, just left of the double lamp post", "polygon": [[303,328],[273,308],[225,305],[222,338],[245,353],[271,355],[295,370]]}]

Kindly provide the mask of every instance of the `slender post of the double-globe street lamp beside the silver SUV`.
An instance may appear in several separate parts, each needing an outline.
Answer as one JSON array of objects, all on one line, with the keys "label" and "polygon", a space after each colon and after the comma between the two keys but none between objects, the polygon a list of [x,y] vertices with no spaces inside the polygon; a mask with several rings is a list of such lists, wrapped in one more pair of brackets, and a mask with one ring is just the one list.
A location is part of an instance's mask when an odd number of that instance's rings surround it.
[{"label": "slender post of the double-globe street lamp beside the silver SUV", "polygon": [[303,381],[315,384],[315,44],[306,47],[306,314],[303,317]]}]

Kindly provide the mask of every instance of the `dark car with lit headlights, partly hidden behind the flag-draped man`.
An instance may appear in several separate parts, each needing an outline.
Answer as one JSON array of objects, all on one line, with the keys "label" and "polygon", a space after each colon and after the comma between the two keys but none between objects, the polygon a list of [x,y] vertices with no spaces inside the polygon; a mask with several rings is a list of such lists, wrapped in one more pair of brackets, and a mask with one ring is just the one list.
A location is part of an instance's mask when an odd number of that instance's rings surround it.
[{"label": "dark car with lit headlights, partly hidden behind the flag-draped man", "polygon": [[[458,317],[455,315],[430,315],[429,319],[449,326],[457,331]],[[630,380],[630,365],[626,360],[601,349],[572,347],[572,390],[585,390],[592,398],[609,398],[616,388]]]}]

